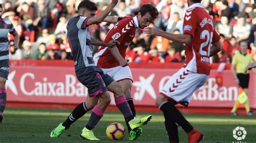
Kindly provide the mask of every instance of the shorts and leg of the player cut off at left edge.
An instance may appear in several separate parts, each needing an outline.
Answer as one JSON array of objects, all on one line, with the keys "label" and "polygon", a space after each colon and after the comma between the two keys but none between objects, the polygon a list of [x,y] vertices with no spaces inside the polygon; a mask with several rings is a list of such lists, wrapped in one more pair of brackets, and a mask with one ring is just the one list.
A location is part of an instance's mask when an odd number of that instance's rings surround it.
[{"label": "shorts and leg of the player cut off at left edge", "polygon": [[0,60],[0,124],[3,120],[3,112],[6,105],[5,83],[9,74],[9,60]]}]

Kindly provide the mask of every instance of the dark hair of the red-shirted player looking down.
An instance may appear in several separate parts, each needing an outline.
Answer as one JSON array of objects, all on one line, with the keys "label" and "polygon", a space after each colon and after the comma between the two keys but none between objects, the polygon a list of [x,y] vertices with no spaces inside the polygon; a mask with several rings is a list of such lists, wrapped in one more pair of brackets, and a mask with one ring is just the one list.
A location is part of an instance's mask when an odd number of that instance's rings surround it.
[{"label": "dark hair of the red-shirted player looking down", "polygon": [[156,19],[159,16],[159,12],[158,12],[157,8],[154,7],[154,5],[152,5],[152,4],[143,4],[139,8],[139,12],[142,15],[142,17],[144,15],[146,15],[147,12],[150,13],[150,15],[152,16],[153,19]]}]

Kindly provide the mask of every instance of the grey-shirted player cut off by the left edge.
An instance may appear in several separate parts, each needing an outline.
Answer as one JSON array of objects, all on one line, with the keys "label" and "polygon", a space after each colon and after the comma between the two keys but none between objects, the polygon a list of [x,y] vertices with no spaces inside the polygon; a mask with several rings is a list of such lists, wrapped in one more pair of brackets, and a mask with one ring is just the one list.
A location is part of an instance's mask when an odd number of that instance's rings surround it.
[{"label": "grey-shirted player cut off by the left edge", "polygon": [[9,41],[8,33],[14,35],[14,47],[18,49],[19,35],[8,18],[2,18],[3,5],[0,4],[0,123],[6,104],[5,82],[9,74]]}]

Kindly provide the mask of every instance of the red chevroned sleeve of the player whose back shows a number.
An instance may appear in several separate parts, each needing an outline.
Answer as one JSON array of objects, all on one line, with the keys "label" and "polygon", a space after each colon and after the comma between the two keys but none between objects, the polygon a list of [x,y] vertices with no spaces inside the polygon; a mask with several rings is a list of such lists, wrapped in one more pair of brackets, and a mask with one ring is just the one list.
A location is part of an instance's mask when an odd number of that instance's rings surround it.
[{"label": "red chevroned sleeve of the player whose back shows a number", "polygon": [[187,33],[194,37],[197,28],[195,10],[187,10],[184,17],[183,34]]}]

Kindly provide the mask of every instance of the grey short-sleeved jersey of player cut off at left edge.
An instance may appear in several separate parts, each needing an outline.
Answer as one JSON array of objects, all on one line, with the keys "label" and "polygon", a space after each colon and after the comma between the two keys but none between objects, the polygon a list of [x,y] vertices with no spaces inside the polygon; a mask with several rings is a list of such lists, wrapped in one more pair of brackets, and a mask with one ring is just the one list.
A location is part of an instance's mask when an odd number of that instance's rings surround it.
[{"label": "grey short-sleeved jersey of player cut off at left edge", "polygon": [[8,33],[15,32],[14,25],[7,18],[0,18],[0,60],[9,59]]}]

